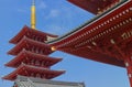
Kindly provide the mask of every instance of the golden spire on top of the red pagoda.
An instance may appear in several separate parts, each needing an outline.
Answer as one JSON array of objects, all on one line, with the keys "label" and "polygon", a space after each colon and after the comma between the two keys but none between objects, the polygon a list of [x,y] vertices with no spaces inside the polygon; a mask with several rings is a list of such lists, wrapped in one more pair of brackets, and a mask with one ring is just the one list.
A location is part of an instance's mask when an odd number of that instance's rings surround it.
[{"label": "golden spire on top of the red pagoda", "polygon": [[36,24],[35,0],[33,0],[32,7],[31,7],[31,28],[32,28],[32,29],[35,29],[35,24]]}]

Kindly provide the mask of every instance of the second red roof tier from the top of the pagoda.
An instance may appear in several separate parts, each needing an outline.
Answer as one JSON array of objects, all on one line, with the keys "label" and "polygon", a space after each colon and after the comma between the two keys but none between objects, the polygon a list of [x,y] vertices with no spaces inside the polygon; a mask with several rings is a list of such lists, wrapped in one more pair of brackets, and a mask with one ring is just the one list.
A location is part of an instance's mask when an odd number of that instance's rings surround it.
[{"label": "second red roof tier from the top of the pagoda", "polygon": [[44,51],[46,50],[46,53],[44,53],[45,55],[53,53],[50,45],[24,36],[12,50],[8,52],[8,54],[18,55],[22,50],[30,50],[32,47],[37,47]]}]

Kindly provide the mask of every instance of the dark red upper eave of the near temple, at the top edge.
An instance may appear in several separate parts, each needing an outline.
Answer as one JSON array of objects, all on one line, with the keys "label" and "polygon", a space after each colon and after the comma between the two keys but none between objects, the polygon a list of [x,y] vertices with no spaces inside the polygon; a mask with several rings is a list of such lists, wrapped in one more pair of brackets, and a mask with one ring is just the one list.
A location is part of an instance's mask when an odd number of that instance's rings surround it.
[{"label": "dark red upper eave of the near temple, at the top edge", "polygon": [[120,0],[68,0],[69,2],[85,9],[94,14],[98,14],[100,10],[107,9]]}]

